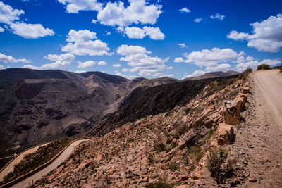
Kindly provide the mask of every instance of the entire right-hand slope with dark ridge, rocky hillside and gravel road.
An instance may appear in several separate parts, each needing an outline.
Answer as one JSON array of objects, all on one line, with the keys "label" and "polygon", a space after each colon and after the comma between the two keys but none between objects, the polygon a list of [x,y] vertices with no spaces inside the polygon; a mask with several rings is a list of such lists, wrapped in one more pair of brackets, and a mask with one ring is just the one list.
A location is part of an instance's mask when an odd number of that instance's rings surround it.
[{"label": "entire right-hand slope with dark ridge, rocky hillside and gravel road", "polygon": [[58,168],[16,186],[281,187],[282,73],[247,73],[128,94]]}]

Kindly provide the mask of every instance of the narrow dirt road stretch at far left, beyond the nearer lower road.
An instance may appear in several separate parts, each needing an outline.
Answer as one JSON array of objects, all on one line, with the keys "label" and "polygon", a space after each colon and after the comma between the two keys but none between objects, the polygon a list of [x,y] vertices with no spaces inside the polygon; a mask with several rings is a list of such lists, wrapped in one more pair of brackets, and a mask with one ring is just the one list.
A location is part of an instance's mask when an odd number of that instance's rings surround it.
[{"label": "narrow dirt road stretch at far left, beyond the nearer lower road", "polygon": [[37,149],[39,149],[39,147],[45,146],[47,144],[49,144],[49,142],[42,144],[42,145],[39,145],[39,146],[32,147],[31,149],[28,149],[28,150],[24,151],[23,153],[20,153],[20,155],[18,155],[16,158],[13,158],[13,161],[11,161],[11,163],[9,163],[3,170],[1,170],[0,181],[3,180],[3,177],[5,175],[7,175],[8,173],[13,171],[13,166],[20,163],[20,161],[23,160],[23,156],[25,156],[28,153],[35,153],[35,151],[37,151]]}]

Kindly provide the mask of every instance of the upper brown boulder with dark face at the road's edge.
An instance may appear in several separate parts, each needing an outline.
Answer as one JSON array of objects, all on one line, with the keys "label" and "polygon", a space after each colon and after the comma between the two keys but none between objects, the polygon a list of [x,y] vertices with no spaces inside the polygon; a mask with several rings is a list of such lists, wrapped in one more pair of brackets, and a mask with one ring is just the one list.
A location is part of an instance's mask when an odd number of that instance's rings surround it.
[{"label": "upper brown boulder with dark face at the road's edge", "polygon": [[225,101],[223,111],[223,121],[226,124],[234,125],[240,122],[240,104],[238,101]]}]

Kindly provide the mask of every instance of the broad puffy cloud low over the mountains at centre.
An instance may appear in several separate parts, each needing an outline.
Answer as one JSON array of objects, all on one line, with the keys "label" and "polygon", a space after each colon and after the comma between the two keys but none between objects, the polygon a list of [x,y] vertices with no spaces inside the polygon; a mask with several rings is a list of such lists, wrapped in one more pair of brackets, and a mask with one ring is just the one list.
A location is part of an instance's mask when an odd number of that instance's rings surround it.
[{"label": "broad puffy cloud low over the mountains at centre", "polygon": [[128,71],[131,73],[138,72],[140,76],[158,76],[164,73],[164,70],[167,68],[164,63],[168,61],[168,58],[162,59],[157,56],[148,56],[148,54],[151,54],[151,51],[147,51],[142,46],[128,46],[123,44],[118,47],[116,52],[124,56],[120,60],[126,61],[131,67]]}]

